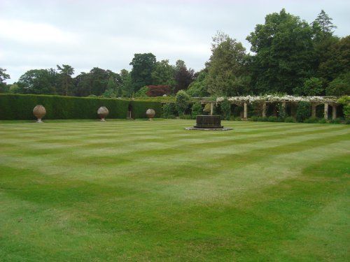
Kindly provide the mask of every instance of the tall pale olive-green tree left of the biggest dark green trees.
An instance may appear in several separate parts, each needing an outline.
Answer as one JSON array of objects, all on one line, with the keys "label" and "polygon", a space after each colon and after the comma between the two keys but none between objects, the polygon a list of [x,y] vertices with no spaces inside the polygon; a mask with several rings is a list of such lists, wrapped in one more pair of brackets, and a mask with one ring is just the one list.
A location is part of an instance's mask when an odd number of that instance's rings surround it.
[{"label": "tall pale olive-green tree left of the biggest dark green trees", "polygon": [[211,44],[207,85],[210,94],[237,96],[248,93],[246,49],[235,39],[218,31]]}]

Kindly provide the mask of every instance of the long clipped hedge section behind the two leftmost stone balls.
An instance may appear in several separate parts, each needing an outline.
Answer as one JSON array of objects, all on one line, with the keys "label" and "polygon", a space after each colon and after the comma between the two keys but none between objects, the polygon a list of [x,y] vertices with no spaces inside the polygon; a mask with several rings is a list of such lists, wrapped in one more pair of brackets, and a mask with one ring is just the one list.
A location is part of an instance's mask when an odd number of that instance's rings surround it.
[{"label": "long clipped hedge section behind the two leftmost stone balls", "polygon": [[0,119],[35,119],[33,108],[38,104],[46,109],[44,119],[95,119],[100,106],[109,109],[108,118],[123,119],[127,117],[129,103],[119,99],[0,94]]}]

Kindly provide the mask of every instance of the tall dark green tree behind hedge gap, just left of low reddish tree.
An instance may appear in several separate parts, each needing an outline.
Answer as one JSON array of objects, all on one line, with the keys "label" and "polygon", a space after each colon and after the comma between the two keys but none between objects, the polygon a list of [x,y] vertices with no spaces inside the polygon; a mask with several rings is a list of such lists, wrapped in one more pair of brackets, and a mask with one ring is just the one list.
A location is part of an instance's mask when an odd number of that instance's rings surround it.
[{"label": "tall dark green tree behind hedge gap, just left of low reddish tree", "polygon": [[132,66],[131,79],[133,92],[141,87],[152,85],[152,73],[155,68],[156,58],[152,53],[134,54],[130,65]]}]

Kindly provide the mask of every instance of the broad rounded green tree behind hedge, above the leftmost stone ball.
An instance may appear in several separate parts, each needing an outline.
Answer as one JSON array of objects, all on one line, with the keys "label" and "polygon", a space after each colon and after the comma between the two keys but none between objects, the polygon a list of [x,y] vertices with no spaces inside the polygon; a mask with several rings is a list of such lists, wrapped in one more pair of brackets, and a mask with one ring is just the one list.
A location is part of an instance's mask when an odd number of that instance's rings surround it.
[{"label": "broad rounded green tree behind hedge, above the leftmost stone ball", "polygon": [[55,81],[48,69],[33,69],[21,75],[16,92],[20,94],[55,94]]}]

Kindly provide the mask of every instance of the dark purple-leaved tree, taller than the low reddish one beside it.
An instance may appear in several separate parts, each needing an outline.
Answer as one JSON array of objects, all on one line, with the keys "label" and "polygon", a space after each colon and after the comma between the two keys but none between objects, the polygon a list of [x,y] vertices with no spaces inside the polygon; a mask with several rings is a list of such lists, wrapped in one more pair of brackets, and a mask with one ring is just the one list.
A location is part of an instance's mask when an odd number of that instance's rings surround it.
[{"label": "dark purple-leaved tree, taller than the low reddish one beside it", "polygon": [[191,82],[195,80],[195,71],[186,67],[186,64],[182,60],[176,61],[175,67],[175,89],[174,93],[179,92],[179,90],[186,90]]}]

